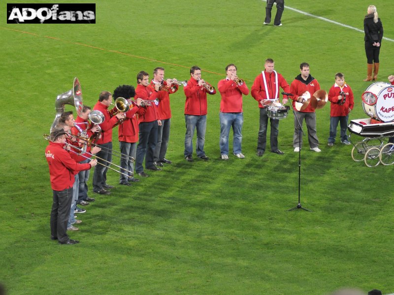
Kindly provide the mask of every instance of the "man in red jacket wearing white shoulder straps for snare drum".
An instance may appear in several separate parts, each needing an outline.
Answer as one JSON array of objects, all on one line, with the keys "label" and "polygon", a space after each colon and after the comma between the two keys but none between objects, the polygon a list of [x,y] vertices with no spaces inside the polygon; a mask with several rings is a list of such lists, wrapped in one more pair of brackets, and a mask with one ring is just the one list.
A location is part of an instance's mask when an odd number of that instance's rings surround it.
[{"label": "man in red jacket wearing white shoulder straps for snare drum", "polygon": [[[272,99],[277,99],[279,101],[279,87],[285,92],[290,91],[290,86],[286,82],[285,78],[274,70],[273,59],[266,59],[264,63],[264,71],[261,75],[256,77],[251,89],[252,96],[259,102],[260,108],[260,129],[257,139],[257,155],[259,157],[263,156],[267,142],[267,106]],[[283,104],[286,104],[287,101],[287,98],[283,98]],[[269,118],[269,121],[271,125],[271,152],[283,155],[284,152],[278,148],[279,119]]]}]

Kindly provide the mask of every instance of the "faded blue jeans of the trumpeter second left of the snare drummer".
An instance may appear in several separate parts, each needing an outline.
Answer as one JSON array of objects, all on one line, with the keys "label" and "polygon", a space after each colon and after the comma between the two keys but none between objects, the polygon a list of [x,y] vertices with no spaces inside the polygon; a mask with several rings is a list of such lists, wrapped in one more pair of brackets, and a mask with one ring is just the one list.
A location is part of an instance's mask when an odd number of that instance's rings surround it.
[{"label": "faded blue jeans of the trumpeter second left of the snare drummer", "polygon": [[193,136],[194,130],[197,129],[197,144],[196,153],[198,157],[205,155],[205,130],[206,130],[206,115],[193,116],[185,115],[186,134],[185,134],[185,157],[193,154]]}]

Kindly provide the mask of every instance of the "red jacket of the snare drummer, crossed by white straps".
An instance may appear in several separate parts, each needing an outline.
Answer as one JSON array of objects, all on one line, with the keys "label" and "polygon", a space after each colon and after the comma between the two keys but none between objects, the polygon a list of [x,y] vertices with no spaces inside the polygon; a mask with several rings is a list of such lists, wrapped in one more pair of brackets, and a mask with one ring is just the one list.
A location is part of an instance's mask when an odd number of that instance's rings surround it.
[{"label": "red jacket of the snare drummer, crossed by white straps", "polygon": [[[267,83],[268,93],[265,92],[263,73],[265,76],[265,81]],[[279,87],[282,88],[285,92],[290,92],[290,86],[281,74],[277,73],[278,91],[276,92],[275,72],[267,73],[266,71],[263,71],[263,73],[256,77],[251,89],[253,98],[259,102],[259,108],[264,108],[263,105],[260,103],[260,101],[263,99],[277,98],[279,100],[279,94],[281,92]]]}]

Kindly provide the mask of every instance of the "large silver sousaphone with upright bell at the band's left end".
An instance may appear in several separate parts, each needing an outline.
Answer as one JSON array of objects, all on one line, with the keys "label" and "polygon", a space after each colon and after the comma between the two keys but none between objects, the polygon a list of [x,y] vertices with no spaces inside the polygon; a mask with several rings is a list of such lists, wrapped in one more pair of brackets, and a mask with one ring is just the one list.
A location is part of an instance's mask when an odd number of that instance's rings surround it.
[{"label": "large silver sousaphone with upright bell at the band's left end", "polygon": [[82,114],[82,107],[83,107],[82,90],[77,77],[74,78],[74,85],[70,90],[62,94],[59,94],[56,97],[56,102],[55,102],[56,117],[52,123],[50,132],[52,132],[53,129],[55,129],[56,125],[59,123],[60,116],[62,115],[62,113],[65,112],[66,104],[74,106],[78,115]]}]

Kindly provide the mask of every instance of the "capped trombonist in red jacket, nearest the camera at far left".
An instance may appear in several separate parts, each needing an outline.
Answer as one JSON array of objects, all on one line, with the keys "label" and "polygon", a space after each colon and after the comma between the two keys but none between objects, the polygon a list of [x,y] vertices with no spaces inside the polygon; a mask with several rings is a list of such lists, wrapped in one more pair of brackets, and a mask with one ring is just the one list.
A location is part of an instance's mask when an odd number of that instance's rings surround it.
[{"label": "capped trombonist in red jacket, nearest the camera at far left", "polygon": [[97,160],[90,163],[78,164],[64,149],[67,132],[55,128],[50,134],[49,146],[45,149],[45,157],[49,165],[53,204],[51,211],[51,239],[57,239],[59,244],[76,244],[67,235],[67,221],[72,202],[72,185],[77,171],[87,170],[97,165]]}]

